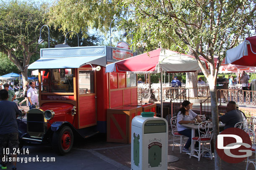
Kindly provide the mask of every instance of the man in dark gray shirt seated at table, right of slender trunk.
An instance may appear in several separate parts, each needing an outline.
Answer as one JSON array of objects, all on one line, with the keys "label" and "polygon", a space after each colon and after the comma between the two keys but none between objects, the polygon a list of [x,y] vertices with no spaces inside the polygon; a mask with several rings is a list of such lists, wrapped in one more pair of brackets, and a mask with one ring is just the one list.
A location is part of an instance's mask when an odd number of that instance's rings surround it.
[{"label": "man in dark gray shirt seated at table, right of slender trunk", "polygon": [[226,107],[227,113],[219,117],[219,121],[225,123],[224,130],[235,127],[238,122],[243,122],[242,114],[236,109],[235,101],[229,101]]}]

